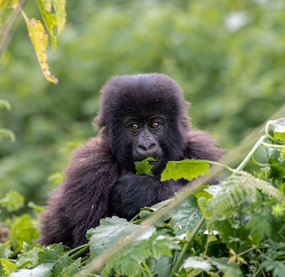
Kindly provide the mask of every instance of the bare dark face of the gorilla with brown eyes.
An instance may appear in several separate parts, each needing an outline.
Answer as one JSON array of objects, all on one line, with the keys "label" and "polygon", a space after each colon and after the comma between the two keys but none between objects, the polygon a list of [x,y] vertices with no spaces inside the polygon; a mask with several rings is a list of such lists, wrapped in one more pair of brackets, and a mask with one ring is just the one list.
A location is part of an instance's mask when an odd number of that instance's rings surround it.
[{"label": "bare dark face of the gorilla with brown eyes", "polygon": [[125,119],[125,131],[132,140],[132,155],[134,161],[148,157],[158,159],[153,162],[157,166],[162,155],[160,138],[166,131],[166,122],[162,116],[150,118],[129,117]]}]

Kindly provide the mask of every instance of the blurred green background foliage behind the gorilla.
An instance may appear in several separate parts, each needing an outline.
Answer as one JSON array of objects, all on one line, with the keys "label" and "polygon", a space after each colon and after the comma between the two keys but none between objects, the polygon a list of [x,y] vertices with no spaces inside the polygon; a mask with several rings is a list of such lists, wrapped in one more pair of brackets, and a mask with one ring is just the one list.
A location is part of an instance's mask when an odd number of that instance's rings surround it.
[{"label": "blurred green background foliage behind the gorilla", "polygon": [[[168,74],[192,103],[193,125],[228,149],[284,103],[283,0],[69,0],[66,9],[56,56],[48,46],[58,85],[42,75],[23,19],[1,57],[0,98],[12,109],[0,126],[17,140],[0,143],[0,198],[10,189],[47,197],[68,149],[97,134],[98,91],[113,75]],[[25,13],[40,18],[33,0]]]}]

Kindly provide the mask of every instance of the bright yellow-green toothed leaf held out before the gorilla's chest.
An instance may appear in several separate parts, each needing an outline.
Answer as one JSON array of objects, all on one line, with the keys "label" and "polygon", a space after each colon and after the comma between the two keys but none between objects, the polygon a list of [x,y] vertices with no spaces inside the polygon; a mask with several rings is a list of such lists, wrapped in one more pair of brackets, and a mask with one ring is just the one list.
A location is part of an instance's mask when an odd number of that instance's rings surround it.
[{"label": "bright yellow-green toothed leaf held out before the gorilla's chest", "polygon": [[194,159],[185,159],[180,162],[168,162],[161,173],[160,181],[184,178],[188,181],[198,178],[199,175],[210,176],[210,165],[207,162]]}]

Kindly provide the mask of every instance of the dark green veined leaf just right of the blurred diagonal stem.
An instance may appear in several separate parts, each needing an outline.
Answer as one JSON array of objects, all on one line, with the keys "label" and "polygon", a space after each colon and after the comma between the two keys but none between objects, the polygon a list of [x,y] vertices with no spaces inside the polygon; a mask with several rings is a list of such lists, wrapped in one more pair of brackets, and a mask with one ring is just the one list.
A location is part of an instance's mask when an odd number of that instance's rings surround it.
[{"label": "dark green veined leaf just right of the blurred diagonal stem", "polygon": [[[175,195],[178,199],[182,196],[182,194],[178,193]],[[194,195],[189,195],[187,198],[183,199],[182,202],[172,209],[170,217],[172,218],[170,224],[172,225],[173,232],[176,236],[186,233],[187,230],[192,232],[202,217],[202,213],[197,204],[197,198]],[[198,235],[201,234],[205,224],[206,223],[199,229]]]}]

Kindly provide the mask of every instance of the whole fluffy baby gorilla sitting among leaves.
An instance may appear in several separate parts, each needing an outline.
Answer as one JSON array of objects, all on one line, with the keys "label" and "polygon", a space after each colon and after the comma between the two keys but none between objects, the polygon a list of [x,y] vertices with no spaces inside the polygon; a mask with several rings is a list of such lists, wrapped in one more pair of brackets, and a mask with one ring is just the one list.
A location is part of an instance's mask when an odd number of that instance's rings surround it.
[{"label": "whole fluffy baby gorilla sitting among leaves", "polygon": [[[42,214],[42,244],[71,248],[87,243],[86,231],[117,215],[128,220],[141,207],[172,197],[187,180],[160,182],[168,161],[217,161],[222,149],[205,132],[191,130],[182,90],[163,74],[117,76],[101,89],[94,124],[98,138],[79,147],[65,179]],[[136,175],[135,161],[152,157],[152,176]],[[217,184],[219,180],[212,180]]]}]

